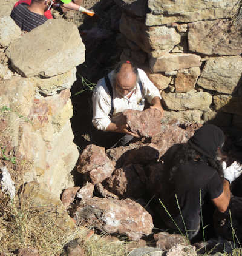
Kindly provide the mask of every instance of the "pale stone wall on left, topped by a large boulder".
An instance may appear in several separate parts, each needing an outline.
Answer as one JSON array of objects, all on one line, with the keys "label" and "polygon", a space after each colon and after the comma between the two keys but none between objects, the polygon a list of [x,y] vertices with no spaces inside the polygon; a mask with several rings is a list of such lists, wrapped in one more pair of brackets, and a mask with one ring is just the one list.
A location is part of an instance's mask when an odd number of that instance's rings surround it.
[{"label": "pale stone wall on left, topped by a large boulder", "polygon": [[79,157],[70,124],[70,87],[76,66],[85,61],[79,31],[71,22],[52,19],[22,33],[4,16],[0,58],[0,110],[8,118],[1,135],[9,136],[19,158],[30,161],[24,181],[44,183],[59,197],[74,186],[70,172]]}]

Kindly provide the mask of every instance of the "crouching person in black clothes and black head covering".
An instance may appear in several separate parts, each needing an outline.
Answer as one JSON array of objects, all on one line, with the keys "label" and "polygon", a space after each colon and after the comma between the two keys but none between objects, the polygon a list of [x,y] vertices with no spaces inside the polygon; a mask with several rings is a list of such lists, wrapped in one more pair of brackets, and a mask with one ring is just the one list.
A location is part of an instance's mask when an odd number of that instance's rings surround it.
[{"label": "crouching person in black clothes and black head covering", "polygon": [[229,181],[224,179],[217,158],[223,144],[221,129],[209,124],[198,129],[188,143],[171,147],[163,157],[167,186],[159,198],[174,221],[162,206],[160,214],[166,226],[174,231],[179,228],[183,234],[187,232],[189,239],[200,229],[201,204],[206,195],[220,212],[226,212],[229,206]]}]

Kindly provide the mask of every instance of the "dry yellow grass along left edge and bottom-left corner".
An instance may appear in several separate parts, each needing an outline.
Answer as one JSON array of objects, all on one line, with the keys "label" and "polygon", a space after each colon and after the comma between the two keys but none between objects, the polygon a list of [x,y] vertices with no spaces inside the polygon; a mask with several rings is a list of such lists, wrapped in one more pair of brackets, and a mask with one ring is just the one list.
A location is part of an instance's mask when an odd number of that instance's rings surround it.
[{"label": "dry yellow grass along left edge and bottom-left corner", "polygon": [[[2,108],[4,107],[4,108]],[[66,231],[56,225],[56,216],[50,207],[34,207],[33,198],[22,197],[24,173],[33,168],[31,161],[18,157],[11,146],[11,127],[23,116],[16,114],[16,120],[9,116],[16,112],[0,106],[0,167],[6,166],[15,189],[19,192],[13,200],[4,194],[0,185],[0,254],[16,255],[18,249],[33,247],[38,249],[40,256],[57,256],[64,252],[64,246],[73,239],[79,238],[87,256],[124,256],[125,244],[111,243],[105,235],[93,235],[87,240],[90,231],[85,227],[76,227],[74,231]],[[1,170],[0,170],[1,177]]]}]

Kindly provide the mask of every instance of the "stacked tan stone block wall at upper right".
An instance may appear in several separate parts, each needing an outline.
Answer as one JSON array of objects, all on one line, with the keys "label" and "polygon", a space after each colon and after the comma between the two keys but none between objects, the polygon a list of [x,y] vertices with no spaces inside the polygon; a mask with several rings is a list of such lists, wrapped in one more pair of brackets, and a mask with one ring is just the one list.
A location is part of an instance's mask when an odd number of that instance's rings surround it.
[{"label": "stacked tan stone block wall at upper right", "polygon": [[121,59],[145,69],[166,118],[242,127],[238,0],[115,0]]}]

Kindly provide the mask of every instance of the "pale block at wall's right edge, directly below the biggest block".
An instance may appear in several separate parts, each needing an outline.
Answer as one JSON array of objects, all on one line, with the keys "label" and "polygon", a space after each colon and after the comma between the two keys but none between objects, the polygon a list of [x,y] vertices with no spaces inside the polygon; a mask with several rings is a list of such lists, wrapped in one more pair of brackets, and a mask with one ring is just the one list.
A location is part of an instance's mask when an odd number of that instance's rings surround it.
[{"label": "pale block at wall's right edge, directly below the biggest block", "polygon": [[241,56],[209,59],[198,79],[198,85],[221,93],[233,93],[242,74]]}]

